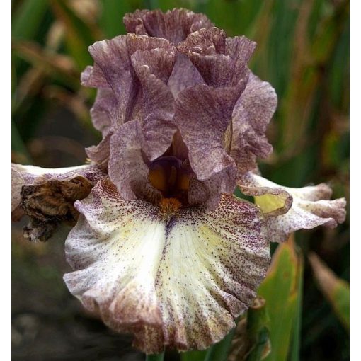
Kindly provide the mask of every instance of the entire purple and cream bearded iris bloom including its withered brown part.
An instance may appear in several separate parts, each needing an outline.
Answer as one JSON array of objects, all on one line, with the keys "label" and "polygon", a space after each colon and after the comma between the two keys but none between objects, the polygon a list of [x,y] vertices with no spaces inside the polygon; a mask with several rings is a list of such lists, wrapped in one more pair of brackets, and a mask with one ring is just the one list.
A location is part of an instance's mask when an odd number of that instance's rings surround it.
[{"label": "entire purple and cream bearded iris bloom including its withered brown part", "polygon": [[329,200],[326,184],[260,176],[277,96],[247,67],[255,42],[185,9],[124,22],[127,35],[89,47],[94,64],[81,75],[98,89],[91,116],[103,135],[86,149],[90,164],[13,164],[13,219],[30,217],[33,241],[74,225],[67,287],[145,353],[201,350],[252,304],[270,242],[336,227],[345,200]]}]

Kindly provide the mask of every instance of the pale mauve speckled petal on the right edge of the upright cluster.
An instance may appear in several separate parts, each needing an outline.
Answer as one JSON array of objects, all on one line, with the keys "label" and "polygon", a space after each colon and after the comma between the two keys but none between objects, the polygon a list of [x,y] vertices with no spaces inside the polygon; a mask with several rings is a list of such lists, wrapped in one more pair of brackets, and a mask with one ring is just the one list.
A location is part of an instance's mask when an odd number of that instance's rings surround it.
[{"label": "pale mauve speckled petal on the right edge of the upright cluster", "polygon": [[236,161],[240,174],[256,168],[257,156],[265,158],[272,152],[265,130],[276,107],[275,90],[251,73],[232,116],[229,154]]}]

